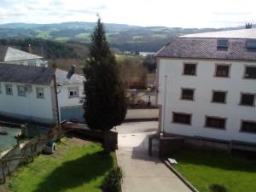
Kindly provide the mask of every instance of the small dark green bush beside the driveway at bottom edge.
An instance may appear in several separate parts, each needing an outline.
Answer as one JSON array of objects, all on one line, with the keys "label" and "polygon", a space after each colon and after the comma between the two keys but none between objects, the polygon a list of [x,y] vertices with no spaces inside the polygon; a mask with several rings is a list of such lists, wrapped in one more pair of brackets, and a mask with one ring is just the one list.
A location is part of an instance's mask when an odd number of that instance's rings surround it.
[{"label": "small dark green bush beside the driveway at bottom edge", "polygon": [[120,167],[114,168],[105,177],[102,183],[103,192],[121,192],[121,184],[123,181],[123,172]]}]

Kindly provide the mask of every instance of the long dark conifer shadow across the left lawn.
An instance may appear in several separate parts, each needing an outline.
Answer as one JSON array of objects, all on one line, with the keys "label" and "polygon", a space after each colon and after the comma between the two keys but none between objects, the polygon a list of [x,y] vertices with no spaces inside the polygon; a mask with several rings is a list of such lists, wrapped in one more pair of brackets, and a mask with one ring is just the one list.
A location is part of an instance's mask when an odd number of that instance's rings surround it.
[{"label": "long dark conifer shadow across the left lawn", "polygon": [[[113,158],[101,152],[86,154],[77,160],[70,160],[57,167],[33,192],[58,192],[73,189],[84,183],[99,179],[113,167]],[[43,167],[44,169],[44,167]],[[96,186],[99,187],[100,186]]]}]

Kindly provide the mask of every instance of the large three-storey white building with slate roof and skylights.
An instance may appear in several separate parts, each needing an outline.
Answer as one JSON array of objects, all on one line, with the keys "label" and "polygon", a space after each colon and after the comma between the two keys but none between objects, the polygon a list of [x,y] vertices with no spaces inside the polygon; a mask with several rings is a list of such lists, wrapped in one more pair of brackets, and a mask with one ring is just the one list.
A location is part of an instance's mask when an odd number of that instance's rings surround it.
[{"label": "large three-storey white building with slate roof and skylights", "polygon": [[181,36],[156,57],[160,132],[256,143],[256,29]]}]

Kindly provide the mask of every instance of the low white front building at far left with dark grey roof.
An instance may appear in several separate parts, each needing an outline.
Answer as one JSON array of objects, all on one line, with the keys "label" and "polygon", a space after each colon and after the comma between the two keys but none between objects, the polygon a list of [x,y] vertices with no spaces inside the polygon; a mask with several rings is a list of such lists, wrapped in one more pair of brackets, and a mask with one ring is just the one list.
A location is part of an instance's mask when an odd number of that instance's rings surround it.
[{"label": "low white front building at far left with dark grey roof", "polygon": [[57,124],[54,79],[53,68],[0,64],[0,115]]}]

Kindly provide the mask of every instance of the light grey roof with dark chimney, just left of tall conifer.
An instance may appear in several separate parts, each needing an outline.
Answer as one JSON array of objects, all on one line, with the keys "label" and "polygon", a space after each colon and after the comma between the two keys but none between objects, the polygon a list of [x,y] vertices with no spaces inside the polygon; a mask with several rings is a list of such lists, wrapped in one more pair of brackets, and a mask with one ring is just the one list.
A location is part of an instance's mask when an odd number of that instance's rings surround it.
[{"label": "light grey roof with dark chimney, just left of tall conifer", "polygon": [[58,68],[55,71],[55,75],[56,75],[57,84],[62,84],[62,85],[83,84],[84,82],[83,75],[70,73]]}]

